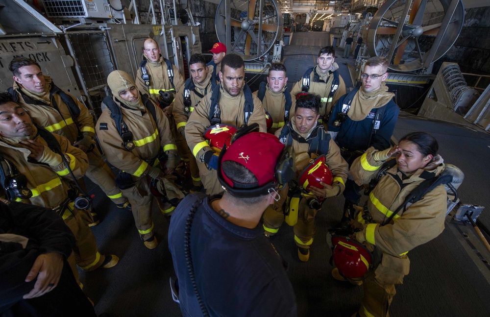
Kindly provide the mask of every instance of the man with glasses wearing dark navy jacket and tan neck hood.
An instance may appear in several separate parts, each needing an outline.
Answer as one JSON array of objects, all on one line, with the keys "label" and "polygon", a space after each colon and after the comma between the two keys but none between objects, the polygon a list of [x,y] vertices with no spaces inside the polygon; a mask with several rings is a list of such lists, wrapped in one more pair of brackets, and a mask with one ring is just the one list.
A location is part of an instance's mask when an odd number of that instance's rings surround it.
[{"label": "man with glasses wearing dark navy jacket and tan neck hood", "polygon": [[[349,166],[369,147],[384,150],[390,139],[400,109],[392,100],[385,80],[388,78],[388,60],[383,56],[368,59],[361,74],[362,87],[339,99],[328,122],[328,132],[340,146]],[[361,198],[360,187],[353,181],[345,184],[344,220],[353,217],[353,204]]]}]

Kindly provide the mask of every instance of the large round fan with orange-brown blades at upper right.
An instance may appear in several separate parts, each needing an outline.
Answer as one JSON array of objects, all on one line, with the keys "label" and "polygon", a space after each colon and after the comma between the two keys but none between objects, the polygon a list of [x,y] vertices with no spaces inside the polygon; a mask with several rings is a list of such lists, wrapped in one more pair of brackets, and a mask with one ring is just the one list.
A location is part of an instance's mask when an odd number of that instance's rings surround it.
[{"label": "large round fan with orange-brown blades at upper right", "polygon": [[388,0],[369,24],[368,53],[399,72],[425,70],[454,44],[463,27],[461,0]]}]

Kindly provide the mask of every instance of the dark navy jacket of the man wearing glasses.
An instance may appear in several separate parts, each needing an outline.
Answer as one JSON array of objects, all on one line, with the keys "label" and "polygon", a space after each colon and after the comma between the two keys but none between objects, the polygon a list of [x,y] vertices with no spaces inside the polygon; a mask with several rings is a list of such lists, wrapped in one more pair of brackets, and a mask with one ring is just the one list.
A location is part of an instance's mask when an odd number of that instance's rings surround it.
[{"label": "dark navy jacket of the man wearing glasses", "polygon": [[334,127],[333,122],[337,118],[337,113],[342,111],[343,100],[347,94],[343,95],[335,104],[330,120],[328,121],[328,131],[339,132],[335,142],[340,146],[347,148],[350,151],[367,150],[370,146],[378,150],[384,150],[390,147],[390,139],[395,128],[396,121],[398,120],[398,113],[400,108],[394,103],[393,100],[388,102],[385,107],[383,117],[381,118],[379,130],[369,143],[369,137],[372,131],[373,119],[376,116],[378,109],[372,109],[369,115],[363,121],[353,121],[347,117],[347,119],[341,124],[340,127]]}]

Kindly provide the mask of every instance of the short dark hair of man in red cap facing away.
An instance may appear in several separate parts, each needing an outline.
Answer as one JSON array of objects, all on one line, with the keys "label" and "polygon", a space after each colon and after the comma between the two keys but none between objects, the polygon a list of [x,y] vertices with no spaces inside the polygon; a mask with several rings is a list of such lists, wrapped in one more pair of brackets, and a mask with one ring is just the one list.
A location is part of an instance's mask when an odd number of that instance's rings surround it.
[{"label": "short dark hair of man in red cap facing away", "polygon": [[[249,171],[245,166],[234,161],[224,161],[221,163],[221,169],[223,174],[226,175],[233,183],[240,182],[242,184],[258,184],[257,177]],[[233,195],[232,192],[226,192],[230,194],[235,202],[242,205],[253,205],[264,199],[264,196],[238,198]]]}]

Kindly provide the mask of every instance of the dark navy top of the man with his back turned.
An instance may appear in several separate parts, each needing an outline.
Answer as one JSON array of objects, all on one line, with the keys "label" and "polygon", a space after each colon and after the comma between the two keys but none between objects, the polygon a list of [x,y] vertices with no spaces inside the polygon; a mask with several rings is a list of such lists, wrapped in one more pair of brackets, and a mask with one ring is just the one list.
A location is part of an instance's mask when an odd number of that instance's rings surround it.
[{"label": "dark navy top of the man with his back turned", "polygon": [[196,194],[179,203],[169,228],[169,248],[183,316],[202,316],[184,250],[186,221],[195,203],[192,262],[197,289],[209,315],[297,316],[293,287],[281,257],[262,234],[262,225],[253,229],[237,226],[213,210],[208,196]]}]

